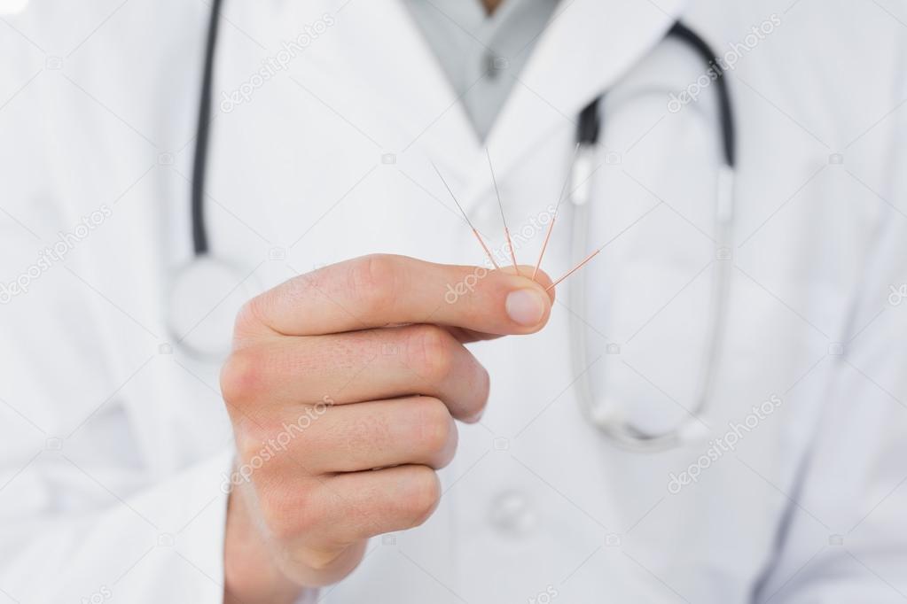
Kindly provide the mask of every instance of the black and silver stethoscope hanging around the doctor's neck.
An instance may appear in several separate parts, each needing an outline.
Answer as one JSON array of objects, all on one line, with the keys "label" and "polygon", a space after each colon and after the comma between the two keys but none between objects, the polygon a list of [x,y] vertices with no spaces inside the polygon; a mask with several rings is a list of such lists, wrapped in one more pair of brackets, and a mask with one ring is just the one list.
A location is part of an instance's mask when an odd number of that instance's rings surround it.
[{"label": "black and silver stethoscope hanging around the doctor's neck", "polygon": [[[180,315],[183,305],[190,303],[194,298],[204,295],[219,283],[226,287],[229,283],[236,283],[240,287],[249,282],[248,273],[228,261],[219,259],[210,254],[208,233],[204,216],[205,177],[208,165],[208,151],[210,142],[211,121],[211,92],[214,72],[214,55],[217,47],[219,14],[222,0],[212,0],[208,39],[205,45],[205,62],[202,73],[201,96],[199,107],[199,123],[195,139],[195,157],[192,167],[191,181],[191,227],[193,259],[190,264],[182,267],[177,273],[171,295],[171,320],[169,328],[171,337],[176,340],[180,348],[190,354],[203,359],[214,360],[226,354],[229,342],[214,342],[219,333],[210,334],[210,341],[203,338],[193,339],[190,335],[198,331],[198,323],[179,321],[173,319]],[[719,77],[714,81],[718,100],[719,129],[721,132],[722,166],[719,171],[717,185],[717,206],[715,212],[716,240],[718,248],[726,247],[730,237],[730,221],[733,214],[733,176],[735,168],[735,128],[734,115],[725,81],[720,67],[716,63],[716,54],[708,44],[697,34],[683,24],[674,24],[668,31],[668,36],[688,44],[707,64],[715,70]],[[581,258],[587,252],[588,239],[588,202],[590,200],[590,176],[596,169],[597,147],[601,139],[603,123],[600,106],[603,96],[590,102],[580,112],[577,128],[577,151],[571,166],[570,201],[573,210],[572,229],[572,255]],[[580,402],[585,409],[590,422],[599,427],[615,443],[637,451],[653,451],[678,446],[681,443],[701,436],[704,432],[699,417],[707,410],[714,368],[716,365],[719,336],[722,332],[725,307],[727,305],[727,263],[718,263],[716,277],[712,285],[712,312],[711,325],[707,333],[707,345],[703,367],[705,370],[699,379],[698,394],[695,398],[696,406],[688,409],[689,418],[681,426],[662,434],[649,434],[640,431],[628,421],[620,417],[620,409],[609,405],[599,405],[593,395],[591,379],[588,369],[587,327],[578,317],[585,316],[585,284],[581,275],[570,282],[570,300],[573,305],[571,312],[571,362],[574,374],[579,378],[576,388]],[[247,283],[248,284],[248,283]],[[229,330],[228,330],[229,331]],[[199,340],[199,341],[195,341]]]}]

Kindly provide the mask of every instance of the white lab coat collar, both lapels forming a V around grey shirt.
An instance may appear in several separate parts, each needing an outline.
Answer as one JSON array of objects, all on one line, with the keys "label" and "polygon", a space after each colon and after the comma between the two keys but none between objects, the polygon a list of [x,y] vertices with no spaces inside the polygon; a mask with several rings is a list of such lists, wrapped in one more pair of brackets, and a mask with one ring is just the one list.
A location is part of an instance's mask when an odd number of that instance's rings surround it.
[{"label": "white lab coat collar, both lapels forming a V around grey shirt", "polygon": [[[399,149],[418,149],[465,184],[464,206],[492,186],[484,148],[499,180],[551,130],[575,122],[580,110],[628,72],[664,36],[687,0],[561,0],[525,70],[483,143],[476,136],[431,47],[402,0],[356,3],[338,17],[349,64],[369,81],[376,102],[405,136]],[[346,37],[349,36],[349,37]],[[572,128],[572,126],[571,126]]]}]

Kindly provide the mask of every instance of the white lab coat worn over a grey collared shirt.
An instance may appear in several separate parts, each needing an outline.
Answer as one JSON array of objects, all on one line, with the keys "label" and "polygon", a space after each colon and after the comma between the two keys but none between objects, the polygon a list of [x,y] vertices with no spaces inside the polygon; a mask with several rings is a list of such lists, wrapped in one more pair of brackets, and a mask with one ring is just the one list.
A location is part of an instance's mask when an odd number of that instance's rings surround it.
[{"label": "white lab coat worn over a grey collared shirt", "polygon": [[[191,256],[208,10],[33,0],[0,24],[0,282],[103,214],[0,306],[0,600],[221,598],[229,422],[217,363],[176,347],[165,312]],[[430,160],[501,243],[483,145],[400,3],[225,10],[206,209],[212,249],[248,283],[375,252],[481,264]],[[773,14],[780,25],[729,75],[740,167],[727,258],[713,243],[711,91],[667,110],[705,67],[660,41],[683,15],[724,53]],[[610,91],[589,236],[613,242],[573,277],[590,283],[588,370],[640,425],[686,416],[709,277],[732,263],[709,432],[639,455],[591,427],[561,288],[543,332],[474,347],[492,396],[482,423],[460,428],[438,511],[373,540],[318,597],[902,600],[907,36],[895,17],[907,18],[896,2],[564,3],[488,141],[511,228],[556,201],[575,116]],[[221,104],[319,21],[248,101]],[[575,260],[570,216],[552,275]],[[522,262],[540,244],[522,244]],[[210,305],[236,303],[228,294]],[[739,427],[772,397],[770,415]],[[734,451],[710,458],[734,430]],[[672,483],[691,464],[697,481]]]}]

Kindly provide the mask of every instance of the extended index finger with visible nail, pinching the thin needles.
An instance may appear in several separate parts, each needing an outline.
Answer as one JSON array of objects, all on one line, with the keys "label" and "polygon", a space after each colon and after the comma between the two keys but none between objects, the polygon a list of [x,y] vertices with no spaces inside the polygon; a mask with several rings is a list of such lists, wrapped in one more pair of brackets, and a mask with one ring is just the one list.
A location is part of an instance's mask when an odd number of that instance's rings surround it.
[{"label": "extended index finger with visible nail, pinching the thin needles", "polygon": [[[532,267],[523,267],[532,274]],[[283,335],[312,336],[405,323],[493,335],[539,331],[551,313],[547,275],[434,264],[375,254],[294,277],[249,302],[243,315]]]}]

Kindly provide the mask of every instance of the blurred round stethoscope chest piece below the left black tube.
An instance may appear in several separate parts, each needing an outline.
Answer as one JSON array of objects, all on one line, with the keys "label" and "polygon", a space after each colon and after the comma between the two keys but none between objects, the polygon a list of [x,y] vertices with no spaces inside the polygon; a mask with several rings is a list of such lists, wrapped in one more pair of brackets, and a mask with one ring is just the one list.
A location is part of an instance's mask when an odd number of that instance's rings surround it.
[{"label": "blurred round stethoscope chest piece below the left black tube", "polygon": [[208,254],[193,258],[174,275],[167,301],[173,343],[200,360],[226,358],[236,314],[256,284],[235,264]]}]

